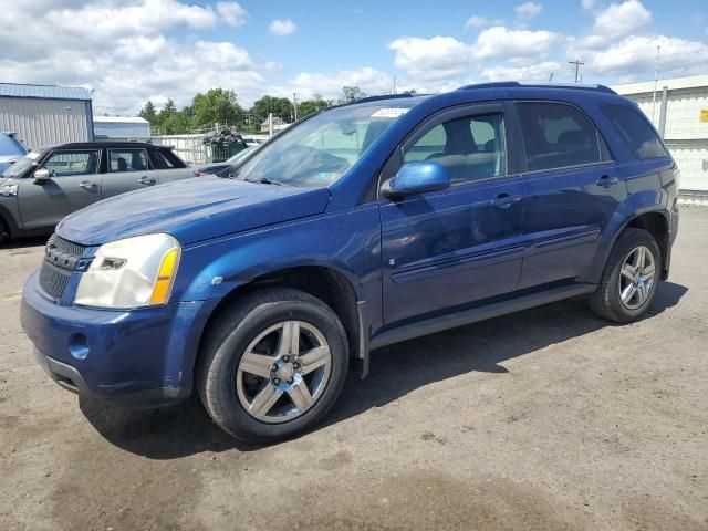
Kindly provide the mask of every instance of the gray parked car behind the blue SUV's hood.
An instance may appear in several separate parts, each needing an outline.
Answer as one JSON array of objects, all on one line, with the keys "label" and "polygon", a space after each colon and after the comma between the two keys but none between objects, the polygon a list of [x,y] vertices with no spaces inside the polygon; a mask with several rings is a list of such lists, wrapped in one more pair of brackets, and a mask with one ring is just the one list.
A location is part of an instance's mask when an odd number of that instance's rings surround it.
[{"label": "gray parked car behind the blue SUV's hood", "polygon": [[51,233],[62,218],[101,199],[194,176],[170,148],[153,144],[107,140],[30,152],[0,174],[0,241]]}]

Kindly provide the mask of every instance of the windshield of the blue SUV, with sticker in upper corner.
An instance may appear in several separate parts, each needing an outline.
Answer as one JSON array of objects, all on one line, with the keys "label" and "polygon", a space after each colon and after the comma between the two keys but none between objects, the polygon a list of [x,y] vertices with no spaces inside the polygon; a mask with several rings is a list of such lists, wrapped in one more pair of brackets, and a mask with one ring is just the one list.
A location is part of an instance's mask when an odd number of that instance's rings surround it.
[{"label": "windshield of the blue SUV, with sticker in upper corner", "polygon": [[303,188],[329,186],[407,111],[403,105],[353,106],[320,113],[263,146],[231,177]]}]

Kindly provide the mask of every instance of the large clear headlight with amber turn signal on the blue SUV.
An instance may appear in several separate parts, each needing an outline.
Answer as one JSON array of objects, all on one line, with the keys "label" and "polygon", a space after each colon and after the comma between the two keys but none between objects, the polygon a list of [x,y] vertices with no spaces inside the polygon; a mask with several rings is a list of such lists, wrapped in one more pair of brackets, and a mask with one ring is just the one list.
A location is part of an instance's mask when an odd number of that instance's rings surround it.
[{"label": "large clear headlight with amber turn signal on the blue SUV", "polygon": [[179,251],[179,242],[169,235],[105,243],[82,274],[74,302],[122,309],[165,304],[177,274]]}]

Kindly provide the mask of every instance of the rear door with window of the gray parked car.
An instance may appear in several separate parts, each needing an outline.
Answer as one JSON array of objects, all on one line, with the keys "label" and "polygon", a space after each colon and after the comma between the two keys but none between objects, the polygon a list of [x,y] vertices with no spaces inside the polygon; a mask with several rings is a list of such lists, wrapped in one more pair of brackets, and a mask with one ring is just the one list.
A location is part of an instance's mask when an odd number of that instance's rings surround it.
[{"label": "rear door with window of the gray parked car", "polygon": [[159,183],[150,169],[147,149],[143,147],[107,148],[107,167],[103,177],[103,198],[149,188]]}]

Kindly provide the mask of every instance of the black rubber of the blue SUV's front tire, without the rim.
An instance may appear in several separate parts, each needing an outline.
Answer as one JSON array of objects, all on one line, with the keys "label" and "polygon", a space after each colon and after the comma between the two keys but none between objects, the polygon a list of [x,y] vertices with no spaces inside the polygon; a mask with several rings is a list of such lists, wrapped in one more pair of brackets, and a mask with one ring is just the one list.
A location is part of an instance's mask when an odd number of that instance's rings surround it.
[{"label": "black rubber of the blue SUV's front tire, without the rim", "polygon": [[[300,416],[269,424],[251,416],[241,404],[238,368],[249,344],[259,334],[293,320],[316,327],[326,340],[331,352],[329,379],[319,398]],[[342,392],[347,366],[346,333],[336,314],[302,291],[269,288],[246,295],[209,327],[199,354],[196,384],[207,413],[221,428],[246,442],[269,444],[300,434],[321,420]],[[269,383],[262,379],[260,385]]]}]

